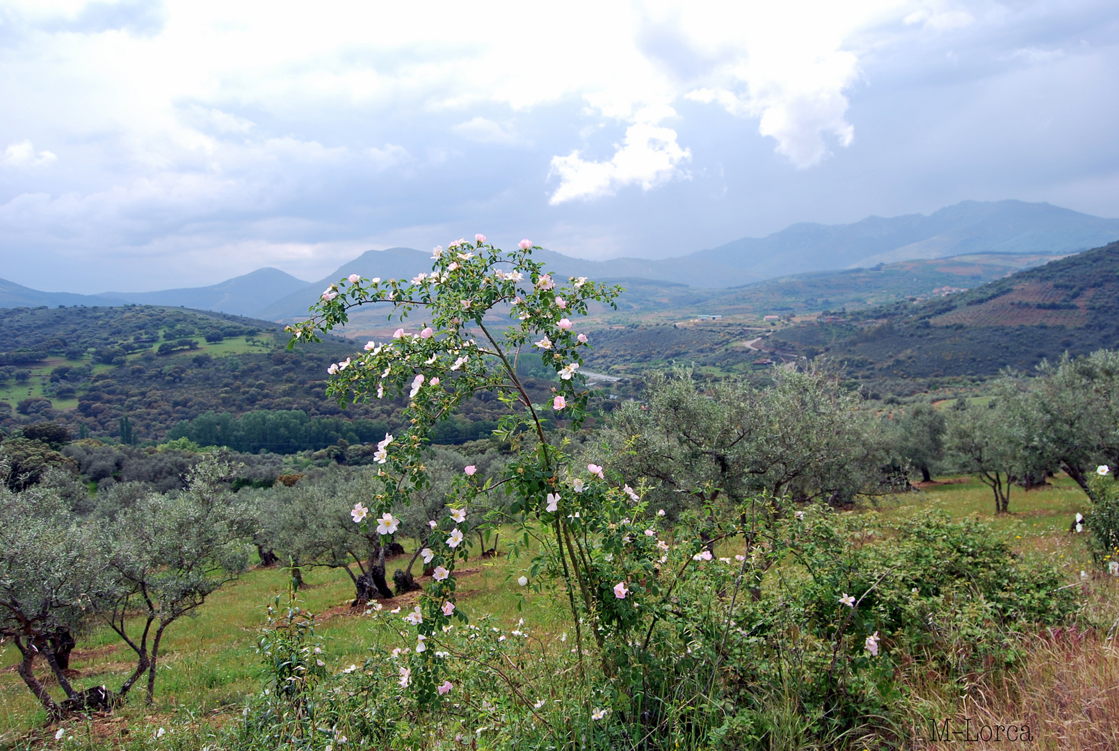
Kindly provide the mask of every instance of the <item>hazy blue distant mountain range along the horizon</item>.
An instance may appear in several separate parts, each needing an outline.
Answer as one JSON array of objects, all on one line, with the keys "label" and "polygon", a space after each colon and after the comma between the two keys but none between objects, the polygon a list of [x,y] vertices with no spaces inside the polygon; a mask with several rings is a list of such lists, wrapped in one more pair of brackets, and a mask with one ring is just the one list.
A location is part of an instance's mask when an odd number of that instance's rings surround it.
[{"label": "hazy blue distant mountain range along the horizon", "polygon": [[[1068,255],[1117,238],[1119,219],[1050,204],[967,200],[929,216],[871,216],[841,225],[794,224],[767,237],[743,237],[669,259],[586,261],[552,251],[535,256],[562,276],[726,289],[790,274],[916,259],[991,253]],[[358,273],[368,278],[411,278],[430,269],[430,264],[426,252],[391,247],[367,251],[316,282],[266,267],[210,287],[100,294],[41,292],[0,279],[0,308],[141,303],[289,321],[305,316],[321,291],[342,276]]]}]

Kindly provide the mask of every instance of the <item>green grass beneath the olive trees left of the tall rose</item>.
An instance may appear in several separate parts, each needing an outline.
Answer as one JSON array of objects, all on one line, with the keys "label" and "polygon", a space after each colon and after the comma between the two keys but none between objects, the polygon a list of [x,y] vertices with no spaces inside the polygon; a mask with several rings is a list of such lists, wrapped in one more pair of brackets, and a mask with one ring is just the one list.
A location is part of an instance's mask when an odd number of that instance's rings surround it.
[{"label": "green grass beneath the olive trees left of the tall rose", "polygon": [[[405,543],[410,554],[398,556],[388,564],[387,576],[406,566],[413,546]],[[507,626],[525,618],[533,628],[551,631],[563,628],[563,610],[547,598],[526,595],[529,607],[516,610],[515,593],[520,590],[508,581],[508,572],[516,566],[508,558],[471,558],[460,573],[459,597],[472,617],[498,613]],[[422,567],[417,562],[413,572]],[[302,607],[320,620],[318,633],[325,637],[328,665],[340,670],[350,664],[360,665],[373,645],[374,630],[361,611],[351,610],[354,585],[341,570],[314,569],[304,571],[305,586],[300,590]],[[156,685],[156,706],[143,706],[143,687],[137,686],[129,696],[124,716],[139,719],[151,714],[189,711],[196,715],[218,710],[236,712],[250,694],[261,687],[261,672],[254,645],[264,620],[264,609],[278,594],[286,593],[288,574],[281,569],[253,569],[239,580],[213,594],[194,618],[173,623],[160,647],[159,677]],[[386,608],[410,602],[415,594],[385,601]],[[469,603],[467,606],[466,603]],[[0,653],[0,748],[3,742],[23,735],[46,722],[46,713],[16,674],[19,653],[4,645]],[[70,667],[81,672],[73,679],[75,688],[106,685],[115,689],[134,666],[133,653],[107,628],[97,628],[78,640]],[[45,664],[36,665],[36,675],[49,676]],[[51,684],[53,685],[53,680]],[[62,691],[53,686],[56,698]]]}]

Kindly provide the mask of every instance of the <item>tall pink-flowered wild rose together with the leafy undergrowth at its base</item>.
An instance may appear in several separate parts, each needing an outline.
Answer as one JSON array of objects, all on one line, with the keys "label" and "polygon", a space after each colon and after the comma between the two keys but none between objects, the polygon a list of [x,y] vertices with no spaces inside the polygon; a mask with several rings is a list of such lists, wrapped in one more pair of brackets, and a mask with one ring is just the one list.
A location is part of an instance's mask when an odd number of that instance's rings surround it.
[{"label": "tall pink-flowered wild rose together with the leafy undergrowth at its base", "polygon": [[[509,406],[497,434],[511,447],[485,481],[462,468],[421,541],[433,575],[419,604],[370,607],[370,657],[313,687],[303,738],[331,729],[321,741],[333,748],[347,733],[399,748],[479,738],[518,749],[750,748],[791,723],[825,744],[859,733],[896,740],[891,727],[912,719],[902,686],[913,670],[934,666],[952,680],[1010,661],[1016,629],[1070,616],[1073,595],[1052,567],[1017,560],[975,523],[929,515],[885,527],[758,498],[668,526],[640,478],[611,472],[623,462],[575,462],[566,433],[549,429],[586,416],[590,340],[576,321],[619,289],[561,282],[530,251],[527,241],[508,254],[481,236],[459,241],[435,248],[432,272],[411,282],[355,275],[331,285],[314,318],[290,327],[293,344],[314,340],[367,303],[391,306],[401,322],[330,368],[339,400],[408,398],[411,428],[379,442],[378,490],[354,505],[363,531],[385,542],[398,533],[393,509],[430,484],[430,432],[476,391]],[[546,401],[518,378],[519,357],[557,374]],[[488,504],[495,495],[505,501]],[[455,571],[487,505],[501,511],[482,525],[517,531],[521,575],[510,588],[566,603],[560,639],[472,623],[459,602]],[[261,716],[251,712],[246,727]]]}]

